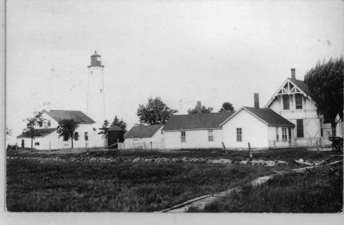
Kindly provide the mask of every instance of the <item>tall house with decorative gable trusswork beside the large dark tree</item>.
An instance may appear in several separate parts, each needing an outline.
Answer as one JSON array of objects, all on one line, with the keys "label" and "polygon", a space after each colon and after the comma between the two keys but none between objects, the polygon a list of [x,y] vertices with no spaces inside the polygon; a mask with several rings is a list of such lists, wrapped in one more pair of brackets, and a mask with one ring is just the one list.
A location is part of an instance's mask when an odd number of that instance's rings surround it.
[{"label": "tall house with decorative gable trusswork beside the large dark tree", "polygon": [[[308,85],[297,80],[295,69],[291,69],[291,77],[282,83],[265,108],[272,109],[296,125],[294,141],[298,147],[316,146],[316,141],[322,146],[331,144],[328,140],[328,136],[332,136],[331,129],[328,129],[331,125],[317,114]],[[338,125],[336,136],[343,136],[341,126],[343,122]]]}]

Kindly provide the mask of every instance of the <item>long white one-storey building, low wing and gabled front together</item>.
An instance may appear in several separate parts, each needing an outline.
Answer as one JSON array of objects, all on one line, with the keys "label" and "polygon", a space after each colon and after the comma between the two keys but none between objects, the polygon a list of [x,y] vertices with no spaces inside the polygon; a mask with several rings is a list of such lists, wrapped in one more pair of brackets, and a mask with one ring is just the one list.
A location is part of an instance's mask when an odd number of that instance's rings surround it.
[{"label": "long white one-storey building, low wing and gabled front together", "polygon": [[[294,125],[271,109],[241,107],[235,112],[173,115],[166,122],[165,149],[268,149],[274,147],[276,131],[281,133],[277,147],[292,146]],[[273,136],[273,138],[271,138]],[[275,143],[276,144],[276,143]]]}]

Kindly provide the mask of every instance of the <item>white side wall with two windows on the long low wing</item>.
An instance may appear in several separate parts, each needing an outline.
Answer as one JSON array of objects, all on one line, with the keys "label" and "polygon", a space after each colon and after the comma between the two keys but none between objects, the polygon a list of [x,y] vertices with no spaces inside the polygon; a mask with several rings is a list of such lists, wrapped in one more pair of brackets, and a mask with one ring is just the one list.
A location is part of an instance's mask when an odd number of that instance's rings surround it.
[{"label": "white side wall with two windows on the long low wing", "polygon": [[208,141],[208,129],[187,130],[186,142],[181,141],[182,131],[164,131],[165,149],[222,148],[222,129],[213,130],[213,141]]}]

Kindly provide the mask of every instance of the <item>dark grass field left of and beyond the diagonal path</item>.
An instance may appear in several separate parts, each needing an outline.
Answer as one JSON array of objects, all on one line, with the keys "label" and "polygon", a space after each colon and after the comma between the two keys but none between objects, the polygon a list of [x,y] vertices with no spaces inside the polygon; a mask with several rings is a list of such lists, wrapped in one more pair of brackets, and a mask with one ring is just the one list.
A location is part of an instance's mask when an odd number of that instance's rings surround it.
[{"label": "dark grass field left of and beyond the diagonal path", "polygon": [[[333,152],[305,149],[255,152],[255,159],[323,160]],[[14,212],[151,212],[201,195],[241,186],[274,170],[297,165],[264,167],[250,164],[191,162],[131,162],[134,158],[228,158],[247,160],[244,151],[83,151],[25,152],[7,160],[8,211]],[[74,162],[23,160],[24,157],[74,158]],[[118,162],[89,162],[85,158],[120,158]],[[334,184],[334,183],[333,183]],[[303,186],[306,189],[306,186]],[[222,211],[222,209],[220,210]]]}]

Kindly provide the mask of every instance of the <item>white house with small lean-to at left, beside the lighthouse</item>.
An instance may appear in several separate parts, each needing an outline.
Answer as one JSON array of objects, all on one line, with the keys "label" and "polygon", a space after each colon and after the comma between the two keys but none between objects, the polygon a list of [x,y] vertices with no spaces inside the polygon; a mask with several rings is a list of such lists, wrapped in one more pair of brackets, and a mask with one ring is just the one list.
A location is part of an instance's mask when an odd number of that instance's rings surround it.
[{"label": "white house with small lean-to at left, beside the lighthouse", "polygon": [[[63,141],[63,137],[58,138],[56,127],[58,122],[63,119],[73,119],[78,123],[78,128],[75,130],[73,140],[74,148],[80,147],[95,147],[96,138],[100,138],[98,132],[95,131],[94,120],[86,116],[82,111],[66,111],[66,110],[43,110],[42,114],[45,118],[44,127],[37,127],[33,140],[34,149],[69,149],[72,147],[71,140]],[[31,147],[31,138],[25,133],[17,136],[18,147]]]}]

